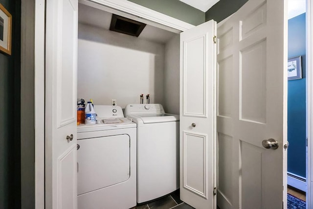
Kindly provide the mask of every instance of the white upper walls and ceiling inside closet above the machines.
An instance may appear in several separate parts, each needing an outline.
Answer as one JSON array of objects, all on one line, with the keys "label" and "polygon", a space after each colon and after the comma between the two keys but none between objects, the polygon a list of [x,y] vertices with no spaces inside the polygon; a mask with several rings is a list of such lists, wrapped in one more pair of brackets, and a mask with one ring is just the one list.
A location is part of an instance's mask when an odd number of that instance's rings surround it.
[{"label": "white upper walls and ceiling inside closet above the machines", "polygon": [[180,31],[136,18],[147,25],[135,37],[109,30],[112,13],[100,7],[79,3],[78,11],[77,97],[125,108],[150,94],[150,103],[179,114]]}]

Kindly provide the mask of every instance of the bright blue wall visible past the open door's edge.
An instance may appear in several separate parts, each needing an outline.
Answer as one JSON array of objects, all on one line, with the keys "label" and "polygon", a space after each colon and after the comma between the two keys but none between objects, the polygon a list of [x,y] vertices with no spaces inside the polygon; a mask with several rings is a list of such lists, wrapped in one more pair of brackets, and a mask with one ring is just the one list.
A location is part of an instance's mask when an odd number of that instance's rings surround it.
[{"label": "bright blue wall visible past the open door's edge", "polygon": [[288,57],[301,55],[302,79],[288,81],[288,171],[306,177],[305,13],[288,21]]}]

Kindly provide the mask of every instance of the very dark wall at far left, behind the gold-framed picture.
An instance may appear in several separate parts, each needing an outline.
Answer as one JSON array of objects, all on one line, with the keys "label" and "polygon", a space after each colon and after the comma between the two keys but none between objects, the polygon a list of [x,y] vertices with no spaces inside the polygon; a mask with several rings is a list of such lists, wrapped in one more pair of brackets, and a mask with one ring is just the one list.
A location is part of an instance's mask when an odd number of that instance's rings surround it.
[{"label": "very dark wall at far left, behind the gold-framed picture", "polygon": [[12,18],[12,55],[0,52],[0,209],[21,208],[21,1],[0,0]]}]

